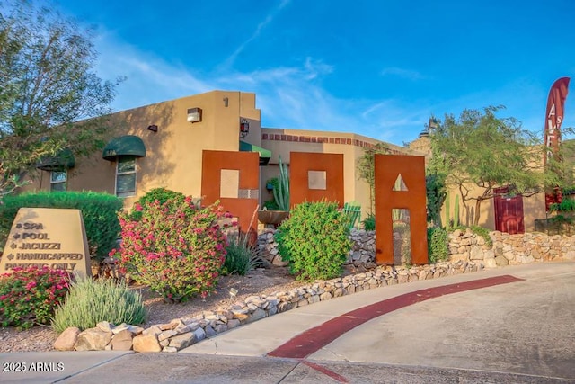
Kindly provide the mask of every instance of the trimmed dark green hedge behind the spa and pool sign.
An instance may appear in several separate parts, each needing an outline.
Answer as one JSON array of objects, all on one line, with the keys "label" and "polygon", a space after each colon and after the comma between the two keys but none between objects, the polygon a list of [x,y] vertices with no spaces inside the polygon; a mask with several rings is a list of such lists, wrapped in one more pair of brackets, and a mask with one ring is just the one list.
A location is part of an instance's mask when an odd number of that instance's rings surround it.
[{"label": "trimmed dark green hedge behind the spa and pool sign", "polygon": [[100,192],[27,192],[6,195],[0,204],[0,249],[4,249],[13,220],[22,207],[81,210],[90,255],[99,261],[116,246],[118,212],[123,207],[118,197]]}]

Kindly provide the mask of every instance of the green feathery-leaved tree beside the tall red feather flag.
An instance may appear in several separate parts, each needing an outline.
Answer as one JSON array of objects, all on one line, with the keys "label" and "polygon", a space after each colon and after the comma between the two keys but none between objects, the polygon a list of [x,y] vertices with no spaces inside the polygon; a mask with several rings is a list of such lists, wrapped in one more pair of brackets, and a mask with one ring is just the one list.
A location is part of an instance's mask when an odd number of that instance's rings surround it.
[{"label": "green feathery-leaved tree beside the tall red feather flag", "polygon": [[[559,172],[543,172],[542,140],[522,129],[514,118],[498,118],[503,107],[483,111],[465,110],[458,119],[446,115],[429,132],[434,174],[445,176],[462,196],[468,221],[477,225],[483,201],[495,196],[494,189],[509,186],[510,193],[531,196],[544,185],[563,185]],[[474,202],[474,212],[470,204]],[[473,220],[472,220],[473,218]]]}]

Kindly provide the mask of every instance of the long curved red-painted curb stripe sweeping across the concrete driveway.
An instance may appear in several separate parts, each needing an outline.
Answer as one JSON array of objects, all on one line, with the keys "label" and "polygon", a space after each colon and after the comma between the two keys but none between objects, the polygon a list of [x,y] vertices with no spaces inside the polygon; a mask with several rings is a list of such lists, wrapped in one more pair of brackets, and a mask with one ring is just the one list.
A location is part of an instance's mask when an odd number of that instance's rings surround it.
[{"label": "long curved red-painted curb stripe sweeping across the concrete driveway", "polygon": [[429,288],[427,290],[416,290],[405,293],[392,299],[385,299],[370,304],[363,308],[358,308],[345,313],[339,317],[334,317],[326,321],[321,326],[315,326],[305,331],[301,335],[292,338],[286,344],[279,345],[278,348],[268,353],[271,357],[285,357],[291,359],[303,359],[312,353],[332,343],[344,333],[360,326],[363,323],[385,315],[396,309],[404,308],[421,301],[438,298],[439,296],[450,295],[452,293],[463,292],[465,290],[479,290],[494,285],[507,284],[509,282],[523,281],[517,277],[503,275],[490,277],[487,279],[466,281],[457,284],[443,285]]}]

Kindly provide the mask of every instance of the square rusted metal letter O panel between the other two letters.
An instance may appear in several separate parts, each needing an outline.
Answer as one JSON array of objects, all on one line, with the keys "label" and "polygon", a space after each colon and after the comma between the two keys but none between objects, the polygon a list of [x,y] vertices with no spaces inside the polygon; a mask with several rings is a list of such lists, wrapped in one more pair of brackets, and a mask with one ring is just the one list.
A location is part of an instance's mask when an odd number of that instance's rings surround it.
[{"label": "square rusted metal letter O panel between the other two letters", "polygon": [[[325,189],[309,188],[309,171],[325,172]],[[343,207],[343,154],[291,152],[289,193],[293,207],[304,201],[337,201]]]}]

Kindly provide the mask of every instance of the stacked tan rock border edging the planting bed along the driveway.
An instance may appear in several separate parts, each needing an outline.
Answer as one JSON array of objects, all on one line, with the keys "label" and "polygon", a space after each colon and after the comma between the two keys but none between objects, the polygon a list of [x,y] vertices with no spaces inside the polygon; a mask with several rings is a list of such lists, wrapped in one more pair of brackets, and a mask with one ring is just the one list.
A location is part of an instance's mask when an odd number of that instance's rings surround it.
[{"label": "stacked tan rock border edging the planting bed along the driveway", "polygon": [[[411,268],[376,266],[365,272],[337,279],[315,281],[294,290],[250,296],[237,301],[230,308],[205,311],[198,317],[174,319],[170,323],[157,324],[146,329],[127,324],[115,326],[107,322],[99,323],[83,332],[70,327],[57,338],[54,346],[59,351],[133,350],[175,353],[206,337],[237,326],[363,290],[477,272],[485,267],[575,259],[575,237],[550,237],[540,233],[509,235],[501,232],[491,232],[490,236],[493,241],[491,247],[486,246],[482,237],[471,231],[456,230],[449,235],[451,260],[448,262]],[[263,234],[262,237],[261,246],[267,246],[268,251],[276,248],[272,237],[268,234]],[[366,265],[374,265],[374,234],[356,231],[352,232],[351,237],[356,241],[356,246],[350,252],[349,264],[362,265],[364,269],[367,268]],[[270,261],[278,257],[273,251],[270,255]],[[280,261],[273,263],[279,264]]]}]

